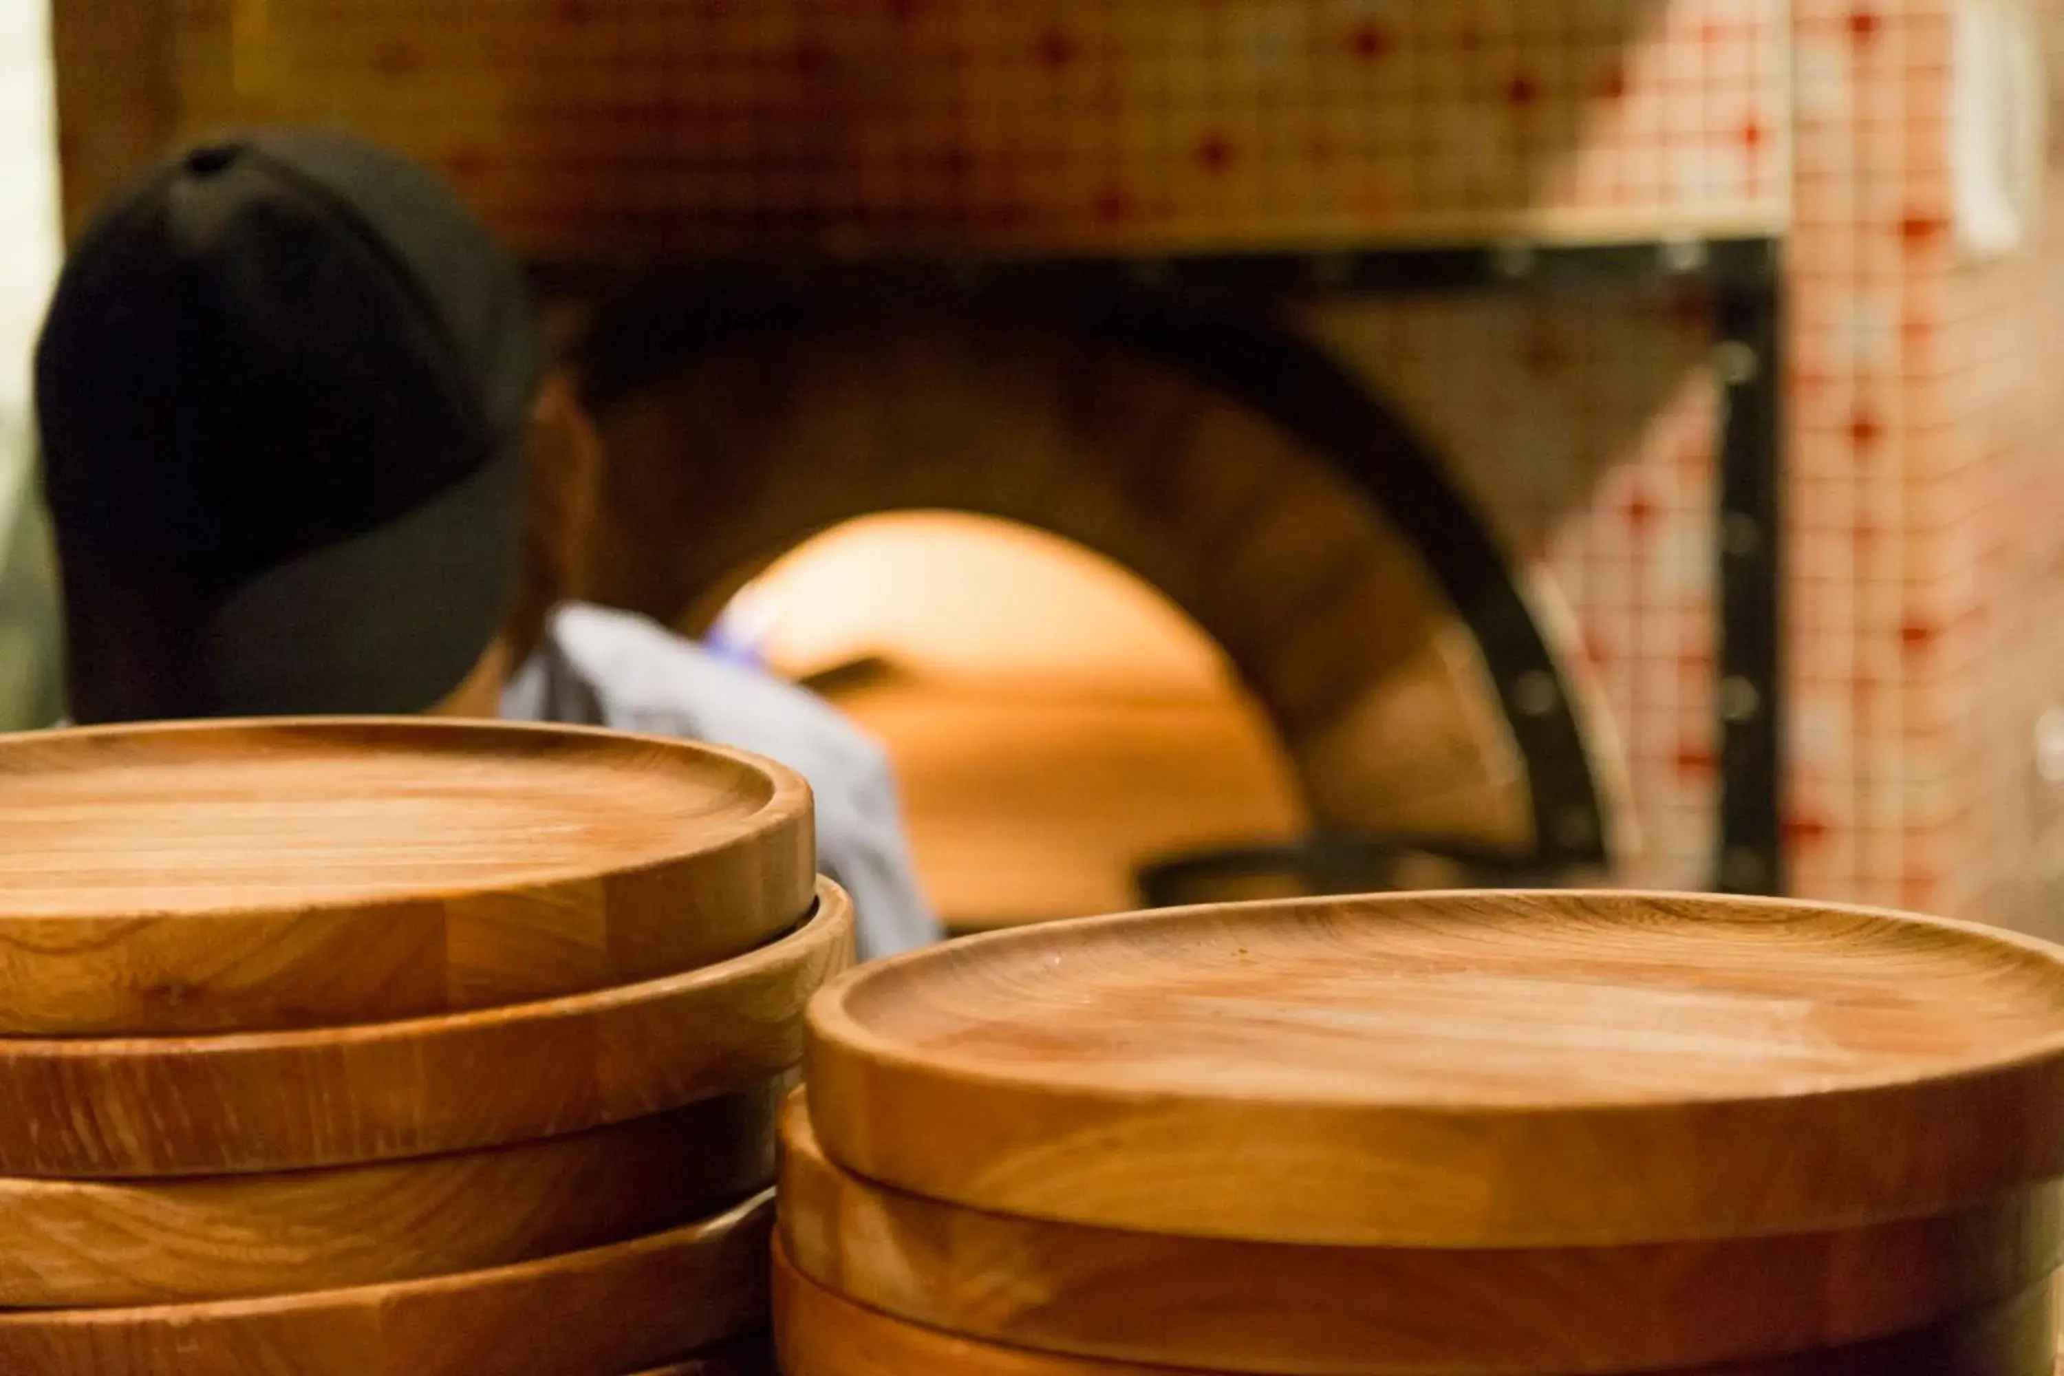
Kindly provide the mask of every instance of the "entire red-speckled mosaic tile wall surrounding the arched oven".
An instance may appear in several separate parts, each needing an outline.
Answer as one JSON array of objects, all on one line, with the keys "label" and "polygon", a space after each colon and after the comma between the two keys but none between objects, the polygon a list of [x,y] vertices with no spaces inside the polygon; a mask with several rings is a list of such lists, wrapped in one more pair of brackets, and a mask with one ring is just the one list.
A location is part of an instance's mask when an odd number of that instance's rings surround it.
[{"label": "entire red-speckled mosaic tile wall surrounding the arched oven", "polygon": [[[2064,807],[2033,743],[2064,697],[2064,196],[2031,250],[1961,260],[1946,68],[1969,2],[167,0],[147,37],[175,56],[169,130],[343,120],[555,256],[1789,227],[1796,887],[2050,928]],[[2064,0],[1998,2],[2064,23]],[[78,153],[74,200],[103,167]],[[1705,881],[1699,301],[1313,328],[1573,611],[1645,838],[1631,877]]]}]

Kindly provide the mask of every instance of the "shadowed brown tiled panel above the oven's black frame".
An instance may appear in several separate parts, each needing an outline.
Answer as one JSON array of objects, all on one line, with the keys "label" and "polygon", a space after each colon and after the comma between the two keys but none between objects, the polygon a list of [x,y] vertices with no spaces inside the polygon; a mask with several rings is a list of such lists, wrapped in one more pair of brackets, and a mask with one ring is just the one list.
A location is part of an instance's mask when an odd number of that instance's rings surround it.
[{"label": "shadowed brown tiled panel above the oven's black frame", "polygon": [[184,0],[190,128],[332,118],[539,252],[1783,219],[1783,0]]}]

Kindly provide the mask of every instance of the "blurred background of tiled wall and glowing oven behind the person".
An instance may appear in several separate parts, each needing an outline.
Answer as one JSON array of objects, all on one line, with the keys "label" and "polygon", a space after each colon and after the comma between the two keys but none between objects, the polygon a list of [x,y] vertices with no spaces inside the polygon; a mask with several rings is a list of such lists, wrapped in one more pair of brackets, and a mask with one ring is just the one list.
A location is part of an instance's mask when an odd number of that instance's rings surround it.
[{"label": "blurred background of tiled wall and glowing oven behind the person", "polygon": [[50,19],[0,0],[8,724],[60,171],[76,229],[318,120],[533,266],[605,439],[566,592],[877,734],[956,928],[1604,877],[2064,935],[2064,0]]}]

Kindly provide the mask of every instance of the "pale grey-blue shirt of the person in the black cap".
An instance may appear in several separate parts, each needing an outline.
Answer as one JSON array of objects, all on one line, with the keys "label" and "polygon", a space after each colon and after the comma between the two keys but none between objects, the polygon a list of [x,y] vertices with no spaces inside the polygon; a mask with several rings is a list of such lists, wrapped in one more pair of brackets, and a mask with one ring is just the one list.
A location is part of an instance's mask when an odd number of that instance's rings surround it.
[{"label": "pale grey-blue shirt of the person in the black cap", "polygon": [[559,607],[502,716],[613,726],[753,751],[809,780],[817,864],[852,895],[861,959],[939,939],[881,747],[807,689],[716,658],[646,617]]}]

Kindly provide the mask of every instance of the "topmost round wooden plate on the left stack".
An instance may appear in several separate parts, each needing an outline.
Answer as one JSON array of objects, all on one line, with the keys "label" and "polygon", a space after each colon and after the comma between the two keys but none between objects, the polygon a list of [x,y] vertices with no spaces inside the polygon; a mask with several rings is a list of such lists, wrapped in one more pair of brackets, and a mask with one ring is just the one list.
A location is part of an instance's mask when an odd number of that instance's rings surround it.
[{"label": "topmost round wooden plate on the left stack", "polygon": [[334,1027],[749,951],[809,908],[809,786],[570,726],[270,720],[0,741],[0,1031]]}]

